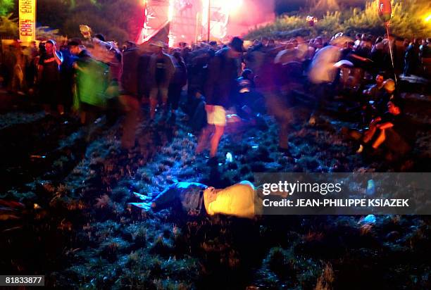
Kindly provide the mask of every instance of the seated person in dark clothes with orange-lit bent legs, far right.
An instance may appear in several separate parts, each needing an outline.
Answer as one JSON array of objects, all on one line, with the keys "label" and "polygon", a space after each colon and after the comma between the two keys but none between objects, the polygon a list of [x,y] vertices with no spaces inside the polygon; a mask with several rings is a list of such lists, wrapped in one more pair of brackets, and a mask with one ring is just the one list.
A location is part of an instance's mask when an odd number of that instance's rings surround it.
[{"label": "seated person in dark clothes with orange-lit bent legs, far right", "polygon": [[[371,153],[376,153],[382,144],[385,144],[390,153],[401,157],[411,151],[413,130],[408,118],[402,113],[401,100],[392,99],[387,103],[388,112],[381,118],[377,117],[370,123],[370,129],[363,135],[363,144]],[[361,145],[358,152],[362,152]]]}]

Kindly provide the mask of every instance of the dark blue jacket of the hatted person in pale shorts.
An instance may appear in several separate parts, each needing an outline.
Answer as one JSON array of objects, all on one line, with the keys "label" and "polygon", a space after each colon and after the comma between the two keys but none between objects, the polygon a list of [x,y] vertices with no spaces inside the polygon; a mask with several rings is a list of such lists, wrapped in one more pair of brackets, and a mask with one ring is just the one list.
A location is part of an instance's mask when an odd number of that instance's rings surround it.
[{"label": "dark blue jacket of the hatted person in pale shorts", "polygon": [[230,106],[230,98],[237,90],[239,62],[229,58],[229,48],[220,49],[209,63],[208,80],[205,84],[206,103],[208,105]]}]

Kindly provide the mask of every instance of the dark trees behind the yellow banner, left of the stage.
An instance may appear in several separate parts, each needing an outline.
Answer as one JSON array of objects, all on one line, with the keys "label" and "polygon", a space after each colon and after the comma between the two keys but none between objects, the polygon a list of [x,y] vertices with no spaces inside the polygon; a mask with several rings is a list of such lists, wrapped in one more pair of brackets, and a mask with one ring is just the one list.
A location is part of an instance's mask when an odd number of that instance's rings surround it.
[{"label": "dark trees behind the yellow banner, left of the stage", "polygon": [[[0,15],[18,18],[18,0],[0,0]],[[59,33],[80,37],[79,25],[118,42],[135,40],[143,25],[140,0],[37,0],[37,26],[49,26]]]}]

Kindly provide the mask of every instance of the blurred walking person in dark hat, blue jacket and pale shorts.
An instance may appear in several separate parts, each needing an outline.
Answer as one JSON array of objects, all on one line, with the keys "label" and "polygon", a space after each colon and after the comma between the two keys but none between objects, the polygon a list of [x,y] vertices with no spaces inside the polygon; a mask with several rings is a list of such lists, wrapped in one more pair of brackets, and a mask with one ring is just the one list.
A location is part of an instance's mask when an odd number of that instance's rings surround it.
[{"label": "blurred walking person in dark hat, blue jacket and pale shorts", "polygon": [[204,86],[208,125],[202,130],[196,153],[204,150],[208,137],[213,132],[210,141],[212,161],[216,159],[218,144],[225,130],[225,108],[230,106],[230,99],[236,94],[240,70],[239,58],[244,52],[243,43],[242,39],[234,37],[229,46],[217,51],[209,63],[208,79]]}]

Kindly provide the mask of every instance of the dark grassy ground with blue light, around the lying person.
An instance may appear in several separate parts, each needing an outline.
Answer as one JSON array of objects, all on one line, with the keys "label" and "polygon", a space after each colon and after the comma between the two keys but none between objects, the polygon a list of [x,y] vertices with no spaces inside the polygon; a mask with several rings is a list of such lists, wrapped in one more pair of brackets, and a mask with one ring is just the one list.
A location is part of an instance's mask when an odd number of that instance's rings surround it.
[{"label": "dark grassy ground with blue light, around the lying person", "polygon": [[[127,206],[177,181],[214,187],[253,172],[386,172],[399,165],[356,154],[339,134],[350,118],[296,106],[289,144],[277,151],[277,126],[227,134],[219,164],[194,154],[185,115],[149,126],[146,108],[137,146],[120,149],[120,122],[82,127],[45,116],[31,100],[3,98],[0,115],[0,272],[46,275],[67,289],[430,289],[427,216],[276,216],[192,218],[174,210]],[[429,171],[430,97],[405,94],[418,126],[410,171]],[[230,152],[232,162],[225,162]]]}]

